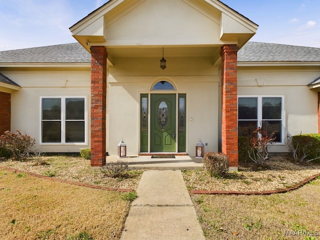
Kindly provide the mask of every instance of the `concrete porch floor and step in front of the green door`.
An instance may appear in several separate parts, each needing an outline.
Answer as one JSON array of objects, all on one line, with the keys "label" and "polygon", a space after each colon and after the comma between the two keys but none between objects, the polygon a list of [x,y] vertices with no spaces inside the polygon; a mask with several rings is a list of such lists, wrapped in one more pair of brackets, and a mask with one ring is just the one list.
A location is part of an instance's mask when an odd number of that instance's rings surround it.
[{"label": "concrete porch floor and step in front of the green door", "polygon": [[153,169],[153,170],[171,170],[171,169],[202,169],[202,158],[195,158],[189,155],[176,155],[175,158],[151,158],[148,156],[126,156],[119,158],[117,155],[109,155],[106,162],[127,161],[129,169]]}]

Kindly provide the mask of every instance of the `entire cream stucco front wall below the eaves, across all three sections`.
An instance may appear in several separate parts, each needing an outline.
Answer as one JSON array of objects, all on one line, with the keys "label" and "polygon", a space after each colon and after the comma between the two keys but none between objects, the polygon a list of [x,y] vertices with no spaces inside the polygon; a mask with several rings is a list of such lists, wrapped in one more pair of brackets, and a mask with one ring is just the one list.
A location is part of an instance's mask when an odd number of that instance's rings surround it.
[{"label": "entire cream stucco front wall below the eaves, across all three sections", "polygon": [[[140,93],[159,80],[167,80],[176,93],[186,94],[186,151],[194,154],[199,138],[207,142],[205,151],[217,151],[220,137],[219,68],[209,57],[166,57],[167,68],[159,67],[160,57],[117,57],[108,68],[106,151],[116,154],[123,138],[127,154],[139,152]],[[90,68],[81,70],[2,71],[21,88],[12,91],[11,129],[40,137],[40,96],[86,96],[87,144],[42,144],[43,152],[78,152],[90,144]],[[238,95],[280,95],[284,97],[284,132],[290,135],[317,132],[317,92],[306,85],[320,74],[317,67],[238,67]],[[256,80],[258,79],[258,80]],[[164,91],[168,93],[171,91]],[[192,120],[190,120],[192,118]],[[284,144],[270,151],[284,152]]]}]

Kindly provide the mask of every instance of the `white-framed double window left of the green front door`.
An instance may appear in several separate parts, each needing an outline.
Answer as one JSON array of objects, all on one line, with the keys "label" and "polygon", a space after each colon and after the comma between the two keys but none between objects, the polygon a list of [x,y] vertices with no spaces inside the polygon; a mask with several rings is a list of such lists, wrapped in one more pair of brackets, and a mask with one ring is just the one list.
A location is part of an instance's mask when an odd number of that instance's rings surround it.
[{"label": "white-framed double window left of the green front door", "polygon": [[41,142],[85,143],[85,97],[41,98]]}]

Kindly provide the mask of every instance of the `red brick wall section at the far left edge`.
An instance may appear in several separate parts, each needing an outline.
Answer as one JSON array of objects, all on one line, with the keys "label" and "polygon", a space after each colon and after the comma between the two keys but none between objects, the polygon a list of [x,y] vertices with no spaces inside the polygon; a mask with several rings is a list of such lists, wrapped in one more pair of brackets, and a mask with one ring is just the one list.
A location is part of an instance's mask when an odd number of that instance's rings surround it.
[{"label": "red brick wall section at the far left edge", "polygon": [[11,93],[0,92],[0,135],[11,130]]}]

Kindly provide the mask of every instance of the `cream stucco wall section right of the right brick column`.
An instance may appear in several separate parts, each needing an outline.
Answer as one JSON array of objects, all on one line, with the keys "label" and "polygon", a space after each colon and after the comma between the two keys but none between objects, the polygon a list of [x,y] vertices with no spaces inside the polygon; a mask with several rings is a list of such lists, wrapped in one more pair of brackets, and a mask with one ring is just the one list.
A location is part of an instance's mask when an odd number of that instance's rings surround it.
[{"label": "cream stucco wall section right of the right brick column", "polygon": [[[283,96],[283,136],[317,133],[317,92],[307,84],[319,74],[318,67],[239,67],[238,95]],[[284,143],[276,143],[269,150],[288,149]]]}]

